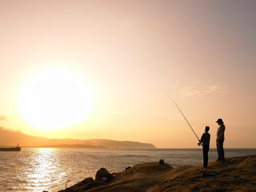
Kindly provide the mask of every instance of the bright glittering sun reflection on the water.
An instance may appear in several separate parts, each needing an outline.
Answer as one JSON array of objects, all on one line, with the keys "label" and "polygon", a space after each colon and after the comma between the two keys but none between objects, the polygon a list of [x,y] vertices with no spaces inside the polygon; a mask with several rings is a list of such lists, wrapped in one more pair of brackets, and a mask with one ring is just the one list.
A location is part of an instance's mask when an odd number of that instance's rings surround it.
[{"label": "bright glittering sun reflection on the water", "polygon": [[65,182],[67,173],[61,169],[61,153],[53,148],[35,148],[25,162],[26,168],[20,170],[19,178],[29,183],[26,189],[42,192],[50,189],[56,182]]}]

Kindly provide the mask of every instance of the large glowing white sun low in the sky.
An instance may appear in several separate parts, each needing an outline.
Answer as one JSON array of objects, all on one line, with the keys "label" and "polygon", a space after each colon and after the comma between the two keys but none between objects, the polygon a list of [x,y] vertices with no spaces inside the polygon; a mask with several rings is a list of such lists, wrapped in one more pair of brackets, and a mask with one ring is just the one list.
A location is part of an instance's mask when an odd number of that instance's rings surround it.
[{"label": "large glowing white sun low in the sky", "polygon": [[47,69],[30,77],[19,94],[25,119],[39,129],[61,129],[90,114],[92,91],[84,79],[68,70]]}]

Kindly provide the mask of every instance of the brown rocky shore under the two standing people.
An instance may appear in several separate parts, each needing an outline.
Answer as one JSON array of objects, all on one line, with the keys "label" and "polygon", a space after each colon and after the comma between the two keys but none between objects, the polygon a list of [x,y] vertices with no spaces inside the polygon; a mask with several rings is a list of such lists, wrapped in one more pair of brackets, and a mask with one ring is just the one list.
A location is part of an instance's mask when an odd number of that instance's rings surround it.
[{"label": "brown rocky shore under the two standing people", "polygon": [[209,167],[201,168],[173,168],[158,162],[135,165],[118,173],[101,168],[95,180],[86,178],[58,192],[256,191],[256,155],[227,158],[225,163],[210,162]]}]

